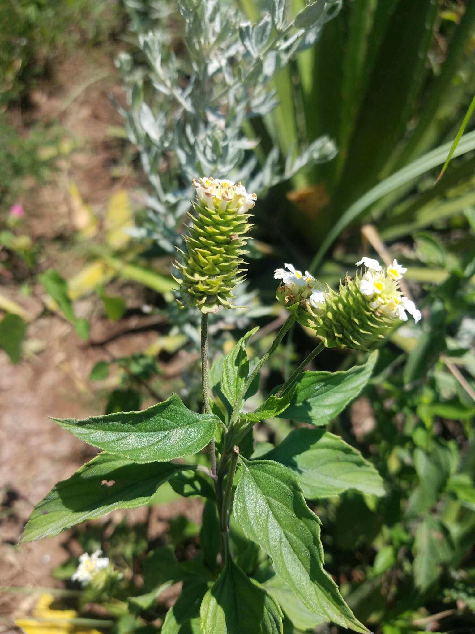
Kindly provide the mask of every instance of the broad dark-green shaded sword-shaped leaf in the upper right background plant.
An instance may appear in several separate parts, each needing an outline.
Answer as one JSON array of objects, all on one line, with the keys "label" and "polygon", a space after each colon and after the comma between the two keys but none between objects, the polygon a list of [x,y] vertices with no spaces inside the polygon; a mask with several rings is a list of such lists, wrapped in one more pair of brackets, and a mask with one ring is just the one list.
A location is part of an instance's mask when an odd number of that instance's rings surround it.
[{"label": "broad dark-green shaded sword-shaped leaf in the upper right background plant", "polygon": [[[338,200],[334,201],[336,213],[377,183],[386,164],[393,160],[395,145],[413,116],[415,98],[421,91],[421,74],[436,17],[437,6],[432,0],[396,3],[384,30],[355,120],[345,169],[341,172],[340,185],[352,183],[352,186],[338,188]],[[399,46],[402,32],[404,46]]]}]

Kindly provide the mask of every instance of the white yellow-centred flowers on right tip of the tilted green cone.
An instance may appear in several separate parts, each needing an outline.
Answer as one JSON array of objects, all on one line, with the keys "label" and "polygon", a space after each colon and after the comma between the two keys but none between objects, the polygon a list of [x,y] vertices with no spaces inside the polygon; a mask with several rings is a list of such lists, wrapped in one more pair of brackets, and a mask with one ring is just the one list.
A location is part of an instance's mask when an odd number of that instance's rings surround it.
[{"label": "white yellow-centred flowers on right tip of the tilted green cone", "polygon": [[399,290],[398,280],[402,279],[407,269],[398,264],[397,260],[393,260],[386,271],[371,257],[362,257],[356,264],[367,269],[360,279],[360,291],[369,300],[370,308],[401,321],[407,321],[406,313],[414,317],[415,323],[421,319],[421,311]]}]

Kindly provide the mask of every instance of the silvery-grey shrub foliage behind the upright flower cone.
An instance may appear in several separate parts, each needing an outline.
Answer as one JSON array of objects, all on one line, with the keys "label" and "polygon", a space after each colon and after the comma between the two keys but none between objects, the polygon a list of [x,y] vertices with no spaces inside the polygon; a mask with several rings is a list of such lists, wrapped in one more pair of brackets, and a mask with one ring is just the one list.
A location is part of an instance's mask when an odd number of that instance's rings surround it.
[{"label": "silvery-grey shrub foliage behind the upright flower cone", "polygon": [[182,55],[170,46],[167,16],[162,28],[139,35],[148,71],[134,67],[127,53],[118,57],[129,100],[129,110],[120,111],[153,188],[146,197],[149,222],[136,235],[154,238],[169,253],[182,245],[181,226],[197,175],[243,181],[259,195],[336,153],[327,136],[297,156],[293,148],[283,169],[277,148],[261,167],[246,153],[258,143],[244,136],[246,120],[277,105],[270,81],[312,46],[341,0],[310,2],[293,20],[285,0],[265,5],[267,11],[252,24],[225,1],[179,0]]}]

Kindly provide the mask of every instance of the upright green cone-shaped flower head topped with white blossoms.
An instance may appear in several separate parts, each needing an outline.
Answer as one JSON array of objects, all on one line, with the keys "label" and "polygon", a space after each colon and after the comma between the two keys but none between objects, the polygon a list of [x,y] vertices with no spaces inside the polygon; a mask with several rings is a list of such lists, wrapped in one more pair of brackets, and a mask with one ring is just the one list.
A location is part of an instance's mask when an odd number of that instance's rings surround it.
[{"label": "upright green cone-shaped flower head topped with white blossoms", "polygon": [[234,308],[232,291],[244,279],[243,250],[251,224],[248,211],[257,197],[241,183],[212,178],[193,180],[197,200],[189,234],[184,236],[187,252],[174,264],[181,273],[175,278],[186,306],[198,306],[201,313],[216,313],[220,306]]}]

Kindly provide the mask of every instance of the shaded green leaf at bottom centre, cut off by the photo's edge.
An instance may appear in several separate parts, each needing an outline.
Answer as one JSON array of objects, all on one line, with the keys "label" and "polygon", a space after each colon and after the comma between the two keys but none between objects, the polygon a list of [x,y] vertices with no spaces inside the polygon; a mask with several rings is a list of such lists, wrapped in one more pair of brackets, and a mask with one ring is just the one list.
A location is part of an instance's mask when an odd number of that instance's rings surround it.
[{"label": "shaded green leaf at bottom centre, cut off by the photo's edge", "polygon": [[218,581],[201,604],[203,634],[282,634],[276,601],[227,557]]}]

